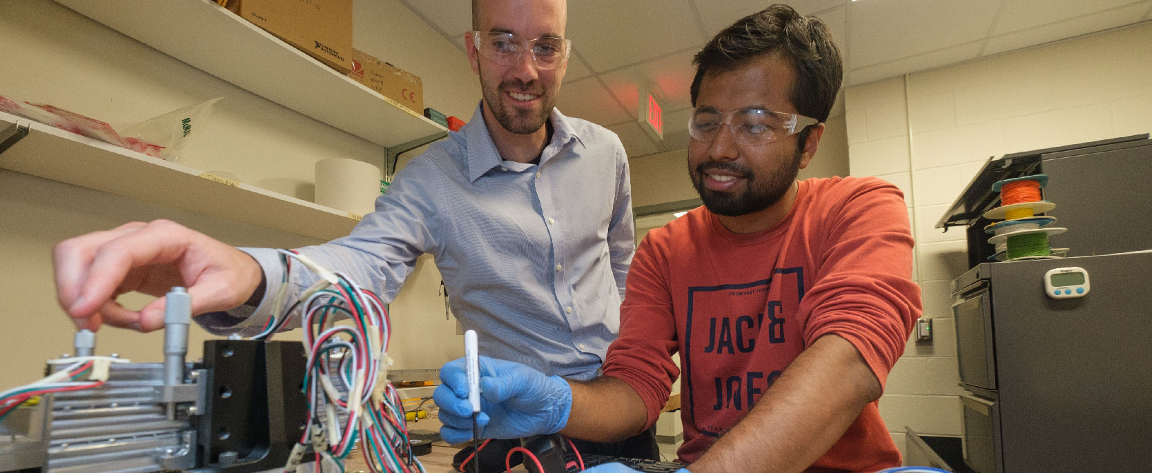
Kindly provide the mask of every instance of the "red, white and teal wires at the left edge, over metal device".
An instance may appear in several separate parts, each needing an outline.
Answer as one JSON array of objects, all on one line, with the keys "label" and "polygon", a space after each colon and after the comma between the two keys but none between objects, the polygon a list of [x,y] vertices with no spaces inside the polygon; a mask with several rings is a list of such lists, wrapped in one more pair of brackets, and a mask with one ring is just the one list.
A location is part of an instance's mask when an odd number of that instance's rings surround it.
[{"label": "red, white and teal wires at the left edge, over metal device", "polygon": [[61,364],[63,361],[69,361],[71,365],[33,383],[0,391],[0,420],[36,396],[101,386],[108,380],[108,365],[111,363],[128,363],[124,359],[109,357],[78,357],[48,363]]}]

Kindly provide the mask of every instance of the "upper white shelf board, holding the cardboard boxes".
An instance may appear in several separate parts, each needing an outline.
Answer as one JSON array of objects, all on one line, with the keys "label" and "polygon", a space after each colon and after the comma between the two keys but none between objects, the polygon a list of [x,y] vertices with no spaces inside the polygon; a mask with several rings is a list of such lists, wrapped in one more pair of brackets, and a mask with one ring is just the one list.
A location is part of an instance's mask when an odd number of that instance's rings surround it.
[{"label": "upper white shelf board, holding the cardboard boxes", "polygon": [[385,147],[447,131],[212,1],[56,2],[257,96]]}]

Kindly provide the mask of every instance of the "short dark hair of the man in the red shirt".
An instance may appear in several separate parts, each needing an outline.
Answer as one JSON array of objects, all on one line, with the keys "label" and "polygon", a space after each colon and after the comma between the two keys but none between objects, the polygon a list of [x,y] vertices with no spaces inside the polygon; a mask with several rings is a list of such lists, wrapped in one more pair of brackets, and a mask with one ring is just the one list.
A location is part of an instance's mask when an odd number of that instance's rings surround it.
[{"label": "short dark hair of the man in the red shirt", "polygon": [[788,98],[796,110],[820,122],[828,120],[843,79],[840,49],[824,22],[804,17],[787,5],[740,18],[696,53],[692,106],[705,75],[729,71],[767,54],[780,54],[795,67],[796,81]]}]

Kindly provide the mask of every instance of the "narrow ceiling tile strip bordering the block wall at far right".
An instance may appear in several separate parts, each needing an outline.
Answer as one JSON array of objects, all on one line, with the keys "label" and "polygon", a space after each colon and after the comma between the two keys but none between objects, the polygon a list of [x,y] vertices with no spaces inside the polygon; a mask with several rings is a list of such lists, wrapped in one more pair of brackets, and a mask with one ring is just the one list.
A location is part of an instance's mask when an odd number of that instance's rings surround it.
[{"label": "narrow ceiling tile strip bordering the block wall at far right", "polygon": [[1033,28],[1031,30],[1001,35],[988,39],[988,44],[984,48],[984,54],[998,54],[1006,51],[1020,49],[1136,23],[1139,21],[1140,15],[1144,14],[1149,6],[1152,6],[1152,1],[1143,1],[1111,9],[1108,12],[1101,12],[1094,15],[1085,15],[1055,24]]}]

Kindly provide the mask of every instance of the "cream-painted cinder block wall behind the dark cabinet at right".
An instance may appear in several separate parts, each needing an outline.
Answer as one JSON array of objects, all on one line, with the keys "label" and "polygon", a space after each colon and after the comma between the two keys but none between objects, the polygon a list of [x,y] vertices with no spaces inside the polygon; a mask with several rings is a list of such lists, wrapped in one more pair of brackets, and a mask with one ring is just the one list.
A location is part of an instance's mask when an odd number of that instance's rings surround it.
[{"label": "cream-painted cinder block wall behind the dark cabinet at right", "polygon": [[934,341],[909,342],[880,412],[904,426],[961,434],[949,281],[964,234],[933,228],[988,157],[1152,131],[1152,24],[1074,38],[846,91],[849,167],[904,191],[914,277]]}]

